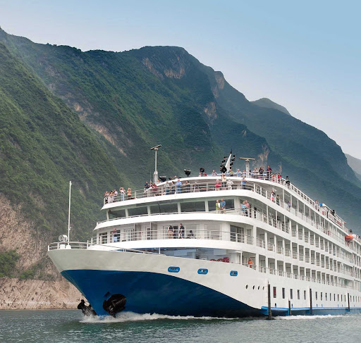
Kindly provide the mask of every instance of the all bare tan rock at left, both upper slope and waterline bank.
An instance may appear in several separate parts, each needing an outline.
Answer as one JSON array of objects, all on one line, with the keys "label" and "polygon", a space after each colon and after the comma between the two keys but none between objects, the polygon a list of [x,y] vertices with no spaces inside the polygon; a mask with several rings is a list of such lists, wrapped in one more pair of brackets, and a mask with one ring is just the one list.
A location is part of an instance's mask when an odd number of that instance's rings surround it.
[{"label": "all bare tan rock at left, both upper slope and waterline bank", "polygon": [[13,208],[0,195],[1,247],[16,250],[20,255],[19,270],[42,263],[41,273],[54,280],[20,280],[0,277],[0,309],[76,308],[82,295],[65,280],[47,257],[49,235],[37,235],[32,223],[23,217],[21,207]]}]

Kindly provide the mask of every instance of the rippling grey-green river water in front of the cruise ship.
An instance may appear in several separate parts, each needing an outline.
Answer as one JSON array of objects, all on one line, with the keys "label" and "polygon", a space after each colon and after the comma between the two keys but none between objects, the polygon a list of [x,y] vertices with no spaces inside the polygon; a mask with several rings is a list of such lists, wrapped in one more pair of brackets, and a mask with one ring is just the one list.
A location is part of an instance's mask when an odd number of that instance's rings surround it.
[{"label": "rippling grey-green river water in front of the cruise ship", "polygon": [[361,314],[264,318],[193,318],[80,311],[0,311],[0,342],[361,343]]}]

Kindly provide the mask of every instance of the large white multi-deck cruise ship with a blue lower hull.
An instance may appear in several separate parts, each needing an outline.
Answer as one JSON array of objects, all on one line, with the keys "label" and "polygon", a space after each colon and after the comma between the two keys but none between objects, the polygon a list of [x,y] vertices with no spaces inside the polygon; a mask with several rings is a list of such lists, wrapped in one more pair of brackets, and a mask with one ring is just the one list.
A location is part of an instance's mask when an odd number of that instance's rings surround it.
[{"label": "large white multi-deck cruise ship with a blue lower hull", "polygon": [[248,159],[229,173],[232,160],[224,175],[185,170],[109,197],[94,237],[60,237],[51,260],[98,316],[360,312],[360,237],[288,178],[252,173]]}]

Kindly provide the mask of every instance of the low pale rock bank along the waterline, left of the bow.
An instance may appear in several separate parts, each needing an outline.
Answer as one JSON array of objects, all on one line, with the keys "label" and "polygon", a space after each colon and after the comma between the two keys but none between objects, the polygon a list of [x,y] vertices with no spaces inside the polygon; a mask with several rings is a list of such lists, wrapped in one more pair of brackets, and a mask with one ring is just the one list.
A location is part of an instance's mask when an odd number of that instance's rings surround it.
[{"label": "low pale rock bank along the waterline, left of the bow", "polygon": [[0,310],[76,308],[80,299],[84,297],[65,279],[0,278]]}]

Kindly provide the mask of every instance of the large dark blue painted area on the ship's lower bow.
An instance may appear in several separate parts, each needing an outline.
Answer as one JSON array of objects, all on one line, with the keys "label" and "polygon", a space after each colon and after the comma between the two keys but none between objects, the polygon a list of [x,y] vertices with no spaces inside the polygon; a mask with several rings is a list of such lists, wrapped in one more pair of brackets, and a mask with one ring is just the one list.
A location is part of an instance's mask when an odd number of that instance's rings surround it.
[{"label": "large dark blue painted area on the ship's lower bow", "polygon": [[[99,316],[103,301],[123,294],[126,309],[170,316],[260,316],[252,308],[214,289],[172,275],[113,270],[65,270],[61,273],[85,295]],[[106,295],[107,294],[107,295]]]}]

